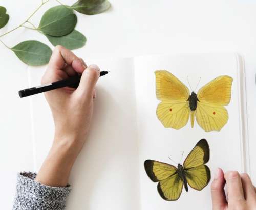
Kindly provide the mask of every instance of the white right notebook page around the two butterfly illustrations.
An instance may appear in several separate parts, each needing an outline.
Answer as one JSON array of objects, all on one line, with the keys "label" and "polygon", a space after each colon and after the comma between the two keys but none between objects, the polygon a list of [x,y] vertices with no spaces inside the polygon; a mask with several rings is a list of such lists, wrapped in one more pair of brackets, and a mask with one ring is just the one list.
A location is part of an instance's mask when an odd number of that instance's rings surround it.
[{"label": "white right notebook page around the two butterfly illustrations", "polygon": [[[156,108],[160,101],[155,94],[155,70],[164,69],[172,72],[188,88],[187,76],[193,89],[199,78],[199,88],[220,75],[233,78],[231,102],[226,106],[229,120],[220,132],[204,132],[195,119],[191,128],[190,119],[180,130],[164,128],[157,119]],[[137,94],[138,141],[140,151],[140,188],[141,210],[186,209],[188,203],[199,209],[211,209],[210,184],[202,191],[188,187],[183,188],[177,201],[165,201],[157,192],[157,183],[152,182],[144,170],[144,161],[153,159],[176,165],[168,159],[170,156],[180,162],[184,151],[183,164],[188,153],[196,143],[205,138],[210,147],[210,160],[207,163],[211,170],[211,181],[217,167],[227,170],[242,170],[238,66],[235,54],[195,54],[173,56],[148,56],[135,59],[135,80]],[[190,89],[190,88],[189,88]],[[198,91],[196,90],[196,92]],[[177,165],[176,165],[177,166]],[[210,181],[210,183],[211,183]]]}]

